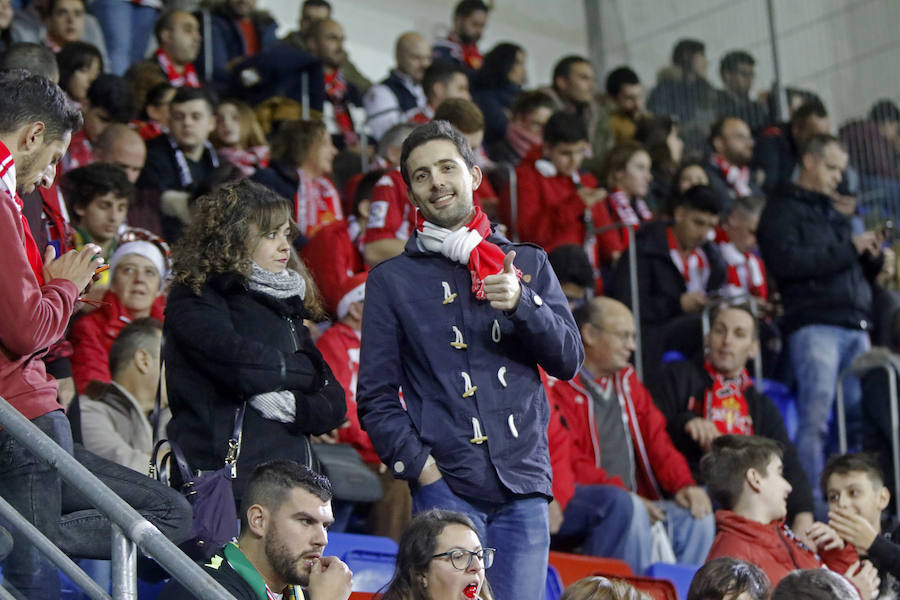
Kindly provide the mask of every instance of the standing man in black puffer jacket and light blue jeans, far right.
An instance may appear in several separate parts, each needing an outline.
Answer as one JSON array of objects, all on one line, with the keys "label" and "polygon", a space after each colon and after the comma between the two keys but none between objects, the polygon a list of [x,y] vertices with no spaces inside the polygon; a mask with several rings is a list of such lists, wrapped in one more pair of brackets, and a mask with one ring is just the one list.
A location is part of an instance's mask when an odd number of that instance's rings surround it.
[{"label": "standing man in black puffer jacket and light blue jeans, far right", "polygon": [[[763,260],[784,300],[782,327],[797,378],[797,451],[810,481],[825,460],[838,374],[870,347],[871,282],[883,262],[881,236],[853,235],[850,220],[834,208],[846,166],[837,138],[813,136],[797,183],[779,188],[759,221]],[[857,416],[859,382],[849,377],[844,385],[848,414]]]}]

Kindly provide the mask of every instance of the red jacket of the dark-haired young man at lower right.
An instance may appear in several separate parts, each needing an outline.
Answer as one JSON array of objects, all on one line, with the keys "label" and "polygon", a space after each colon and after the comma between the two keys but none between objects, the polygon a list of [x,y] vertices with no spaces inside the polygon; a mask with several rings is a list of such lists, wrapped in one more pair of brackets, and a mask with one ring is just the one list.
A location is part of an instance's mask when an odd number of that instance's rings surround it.
[{"label": "red jacket of the dark-haired young man at lower right", "polygon": [[784,521],[763,525],[730,510],[716,511],[716,531],[706,560],[720,556],[745,560],[765,571],[773,588],[794,569],[818,569],[824,565],[843,575],[859,560],[851,544],[819,555],[801,545]]}]

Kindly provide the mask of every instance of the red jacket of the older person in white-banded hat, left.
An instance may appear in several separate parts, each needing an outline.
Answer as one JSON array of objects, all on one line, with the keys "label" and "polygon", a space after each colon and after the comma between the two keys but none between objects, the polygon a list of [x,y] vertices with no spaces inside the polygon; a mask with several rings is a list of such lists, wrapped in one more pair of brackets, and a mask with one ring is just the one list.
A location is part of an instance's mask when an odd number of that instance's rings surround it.
[{"label": "red jacket of the older person in white-banded hat, left", "polygon": [[[122,305],[122,301],[114,293],[103,295],[103,306],[87,314],[72,325],[69,341],[75,348],[72,354],[72,378],[79,394],[92,380],[109,383],[109,349],[119,332],[131,323],[134,317]],[[150,307],[150,316],[163,320],[166,299],[160,296]]]}]

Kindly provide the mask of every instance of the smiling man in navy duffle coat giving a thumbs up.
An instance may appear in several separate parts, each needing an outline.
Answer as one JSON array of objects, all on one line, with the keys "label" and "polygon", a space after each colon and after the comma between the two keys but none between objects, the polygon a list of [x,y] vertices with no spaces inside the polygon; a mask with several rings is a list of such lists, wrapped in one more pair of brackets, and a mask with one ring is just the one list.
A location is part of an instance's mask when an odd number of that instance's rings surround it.
[{"label": "smiling man in navy duffle coat giving a thumbs up", "polygon": [[[366,283],[360,421],[382,462],[410,481],[414,511],[470,515],[498,546],[497,597],[528,597],[544,587],[552,496],[537,366],[572,377],[581,340],[546,255],[494,235],[474,207],[481,170],[458,131],[418,127],[401,169],[420,225]],[[470,251],[453,251],[463,239]]]}]

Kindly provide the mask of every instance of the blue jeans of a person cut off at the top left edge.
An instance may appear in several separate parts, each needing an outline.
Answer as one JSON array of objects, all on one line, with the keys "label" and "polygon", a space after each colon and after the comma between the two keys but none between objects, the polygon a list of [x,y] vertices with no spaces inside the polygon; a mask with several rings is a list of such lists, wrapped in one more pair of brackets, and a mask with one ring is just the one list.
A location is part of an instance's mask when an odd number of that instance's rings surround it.
[{"label": "blue jeans of a person cut off at the top left edge", "polygon": [[90,9],[103,30],[110,73],[124,75],[132,63],[144,60],[157,9],[125,0],[94,0]]}]

